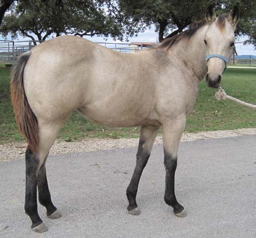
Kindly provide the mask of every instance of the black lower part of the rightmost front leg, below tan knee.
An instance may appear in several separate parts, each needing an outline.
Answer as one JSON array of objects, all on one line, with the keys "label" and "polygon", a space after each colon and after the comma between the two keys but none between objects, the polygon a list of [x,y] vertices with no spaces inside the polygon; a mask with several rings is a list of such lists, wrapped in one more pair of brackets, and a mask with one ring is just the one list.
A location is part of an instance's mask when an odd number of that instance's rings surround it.
[{"label": "black lower part of the rightmost front leg, below tan knee", "polygon": [[174,191],[175,171],[177,167],[177,158],[173,158],[165,151],[164,164],[166,167],[166,189],[165,189],[165,202],[173,207],[175,214],[183,211],[183,207],[176,199]]}]

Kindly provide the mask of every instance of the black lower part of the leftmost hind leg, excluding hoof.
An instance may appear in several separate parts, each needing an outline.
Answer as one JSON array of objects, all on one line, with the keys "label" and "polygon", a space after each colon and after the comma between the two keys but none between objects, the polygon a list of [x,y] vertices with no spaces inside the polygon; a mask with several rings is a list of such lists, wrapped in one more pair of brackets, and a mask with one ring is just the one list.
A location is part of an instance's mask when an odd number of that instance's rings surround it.
[{"label": "black lower part of the leftmost hind leg, excluding hoof", "polygon": [[31,228],[41,224],[43,221],[38,215],[37,206],[37,179],[39,159],[36,154],[27,148],[26,150],[26,190],[25,190],[25,212],[32,221]]}]

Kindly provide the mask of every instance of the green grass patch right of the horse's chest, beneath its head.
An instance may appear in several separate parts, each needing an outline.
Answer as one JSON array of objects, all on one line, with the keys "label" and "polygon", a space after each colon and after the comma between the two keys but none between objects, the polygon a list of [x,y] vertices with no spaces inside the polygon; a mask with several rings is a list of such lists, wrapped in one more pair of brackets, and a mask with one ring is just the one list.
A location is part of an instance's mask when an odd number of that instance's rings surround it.
[{"label": "green grass patch right of the horse's chest, beneath its head", "polygon": [[[256,70],[228,69],[221,86],[228,95],[256,105]],[[216,89],[200,85],[197,103],[187,118],[186,131],[230,130],[256,127],[256,111],[230,100],[218,101]]]}]

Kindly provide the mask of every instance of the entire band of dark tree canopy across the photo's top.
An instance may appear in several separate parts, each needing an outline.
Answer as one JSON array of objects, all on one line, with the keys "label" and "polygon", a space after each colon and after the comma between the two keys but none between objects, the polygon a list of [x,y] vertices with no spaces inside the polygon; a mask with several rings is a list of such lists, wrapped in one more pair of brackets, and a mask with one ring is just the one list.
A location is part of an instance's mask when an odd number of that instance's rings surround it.
[{"label": "entire band of dark tree canopy across the photo's top", "polygon": [[[212,5],[217,14],[228,13],[235,4],[240,10],[236,35],[247,35],[247,43],[256,47],[256,1],[251,0],[0,0],[15,2],[16,7],[3,20],[3,36],[11,33],[38,40],[51,34],[105,36],[127,39],[155,26],[158,41],[170,38],[204,17]],[[7,5],[5,5],[6,8]],[[3,8],[4,9],[4,8]],[[0,11],[0,13],[1,13]],[[6,10],[5,10],[6,11]],[[1,20],[1,15],[0,15]],[[1,23],[1,21],[0,21]]]}]

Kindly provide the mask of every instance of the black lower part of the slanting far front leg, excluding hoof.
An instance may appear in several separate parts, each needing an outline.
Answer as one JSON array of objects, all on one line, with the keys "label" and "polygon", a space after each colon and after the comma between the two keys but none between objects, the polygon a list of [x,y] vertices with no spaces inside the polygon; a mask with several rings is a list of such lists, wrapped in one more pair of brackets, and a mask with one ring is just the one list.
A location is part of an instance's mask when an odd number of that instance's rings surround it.
[{"label": "black lower part of the slanting far front leg, excluding hoof", "polygon": [[144,143],[145,143],[145,141],[142,141],[142,140],[140,140],[140,142],[139,142],[139,149],[138,149],[138,153],[136,156],[137,157],[136,166],[134,169],[134,173],[133,173],[131,182],[126,190],[126,196],[129,201],[129,206],[127,207],[128,211],[131,211],[138,207],[137,202],[136,202],[138,186],[139,186],[139,182],[140,182],[140,178],[141,178],[143,169],[146,166],[148,158],[150,156],[150,153],[143,149]]}]

